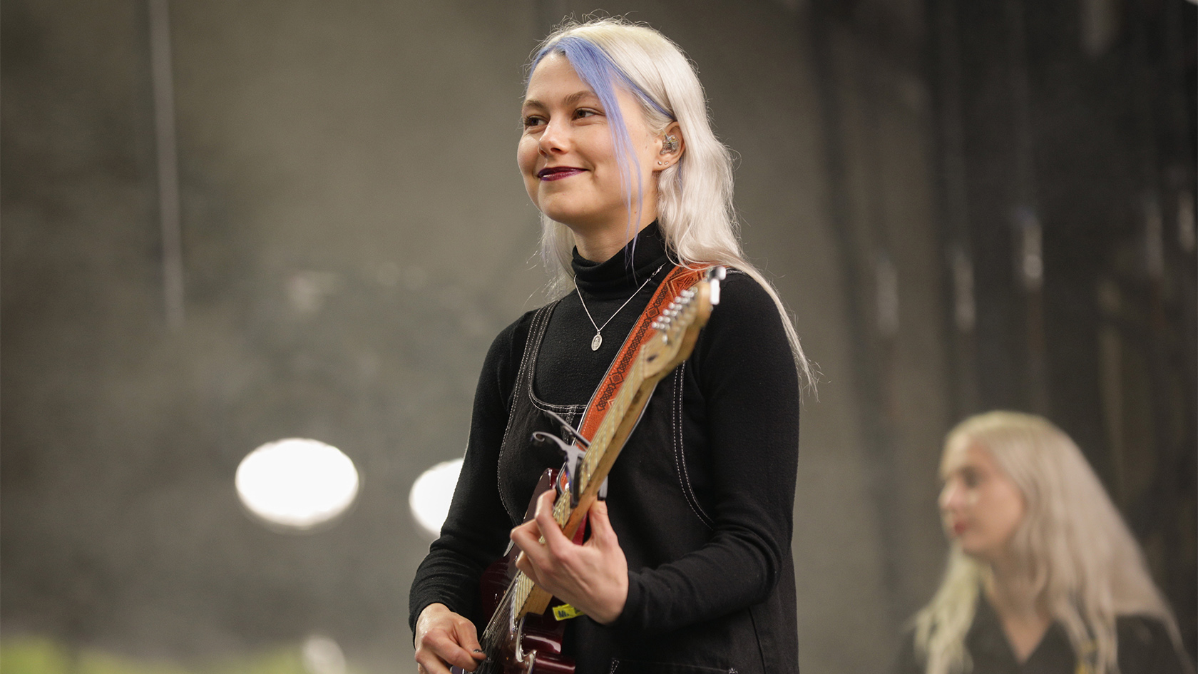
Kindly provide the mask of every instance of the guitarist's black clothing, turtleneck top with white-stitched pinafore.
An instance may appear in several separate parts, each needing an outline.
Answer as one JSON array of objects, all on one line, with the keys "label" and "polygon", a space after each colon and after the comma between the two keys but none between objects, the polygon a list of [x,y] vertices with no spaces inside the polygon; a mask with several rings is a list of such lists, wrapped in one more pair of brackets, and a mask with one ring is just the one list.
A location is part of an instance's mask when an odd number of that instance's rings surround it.
[{"label": "guitarist's black clothing, turtleneck top with white-stitched pinafore", "polygon": [[[595,264],[575,253],[580,293],[552,308],[534,351],[538,405],[581,413],[671,266],[655,224],[637,236],[633,264],[627,255],[628,249]],[[580,294],[603,326],[598,351],[591,350],[595,327]],[[594,651],[601,656],[587,655],[585,644],[575,649],[580,672],[588,670],[582,662],[588,657],[606,672],[607,655],[653,662],[692,657],[700,658],[694,664],[739,672],[797,670],[791,535],[798,375],[768,293],[732,272],[721,294],[694,354],[659,384],[612,470],[607,504],[629,561],[628,598],[612,626],[580,619],[588,625],[577,627],[579,642],[610,640]],[[483,363],[449,516],[412,584],[413,630],[429,603],[474,614],[478,577],[503,553],[528,503],[534,480],[509,485],[497,467],[514,401],[524,395],[514,390],[518,372],[526,347],[537,347],[530,343],[534,313],[504,329]],[[544,461],[559,463],[552,456]],[[745,630],[756,633],[756,643],[745,643]],[[651,634],[654,639],[642,643]],[[697,639],[702,644],[692,643]],[[720,646],[724,642],[740,645]],[[731,655],[716,664],[710,657],[720,656],[703,656],[703,649]]]}]

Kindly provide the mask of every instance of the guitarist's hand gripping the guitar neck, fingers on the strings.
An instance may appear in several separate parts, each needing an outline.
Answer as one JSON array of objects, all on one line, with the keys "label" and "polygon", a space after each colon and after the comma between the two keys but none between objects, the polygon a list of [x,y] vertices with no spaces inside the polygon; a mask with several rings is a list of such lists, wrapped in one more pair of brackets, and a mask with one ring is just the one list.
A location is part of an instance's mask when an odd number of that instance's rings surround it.
[{"label": "guitarist's hand gripping the guitar neck, fingers on the strings", "polygon": [[537,500],[537,517],[513,529],[512,541],[521,550],[516,558],[520,571],[595,622],[607,625],[624,610],[628,559],[607,519],[607,504],[595,501],[589,518],[591,538],[574,544],[553,520],[553,491],[549,489]]}]

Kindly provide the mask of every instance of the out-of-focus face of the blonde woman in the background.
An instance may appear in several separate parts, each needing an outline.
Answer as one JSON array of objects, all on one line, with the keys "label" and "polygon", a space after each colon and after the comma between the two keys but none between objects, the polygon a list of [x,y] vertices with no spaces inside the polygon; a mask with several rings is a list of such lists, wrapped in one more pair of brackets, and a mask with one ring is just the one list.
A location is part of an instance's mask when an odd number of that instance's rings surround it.
[{"label": "out-of-focus face of the blonde woman in the background", "polygon": [[940,516],[949,538],[969,556],[996,561],[1027,510],[1023,493],[982,445],[962,444],[944,456]]}]

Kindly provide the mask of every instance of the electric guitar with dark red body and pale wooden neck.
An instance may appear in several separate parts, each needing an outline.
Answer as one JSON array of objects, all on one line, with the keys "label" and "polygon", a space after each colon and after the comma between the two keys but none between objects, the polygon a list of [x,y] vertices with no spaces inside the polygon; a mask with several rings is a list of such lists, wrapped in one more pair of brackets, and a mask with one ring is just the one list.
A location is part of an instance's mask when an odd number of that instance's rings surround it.
[{"label": "electric guitar with dark red body and pale wooden neck", "polygon": [[[628,437],[645,411],[658,381],[690,356],[700,329],[720,301],[722,266],[710,267],[706,277],[683,290],[651,325],[655,331],[646,337],[636,353],[618,391],[607,401],[607,411],[587,440],[564,420],[563,432],[573,440],[562,441],[549,433],[534,433],[533,439],[553,441],[567,455],[559,469],[549,469],[537,485],[525,522],[534,513],[537,497],[555,488],[553,519],[562,532],[575,542],[582,540],[582,524],[597,498],[605,495],[605,481]],[[574,662],[562,655],[562,618],[547,610],[552,596],[515,567],[520,553],[513,546],[507,558],[484,572],[480,589],[484,610],[491,619],[479,636],[486,660],[476,674],[573,674]],[[559,603],[559,602],[558,602]],[[569,607],[556,607],[561,613]],[[453,674],[465,674],[452,668]]]}]

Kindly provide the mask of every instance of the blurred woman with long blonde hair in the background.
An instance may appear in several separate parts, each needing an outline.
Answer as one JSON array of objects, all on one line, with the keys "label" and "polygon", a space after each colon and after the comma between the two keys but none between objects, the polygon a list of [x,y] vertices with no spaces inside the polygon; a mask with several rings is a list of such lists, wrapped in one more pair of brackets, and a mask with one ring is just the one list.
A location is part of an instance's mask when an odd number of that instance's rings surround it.
[{"label": "blurred woman with long blonde hair in the background", "polygon": [[900,657],[910,674],[1192,672],[1139,547],[1077,445],[992,411],[940,459],[948,571]]}]

